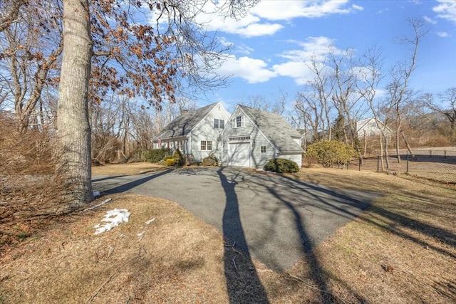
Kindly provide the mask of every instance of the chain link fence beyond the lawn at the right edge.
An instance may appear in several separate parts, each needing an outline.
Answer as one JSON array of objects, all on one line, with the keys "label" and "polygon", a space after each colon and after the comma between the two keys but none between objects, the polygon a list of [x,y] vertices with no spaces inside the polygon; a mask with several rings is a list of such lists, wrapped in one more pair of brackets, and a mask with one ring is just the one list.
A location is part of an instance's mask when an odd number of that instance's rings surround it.
[{"label": "chain link fence beyond the lawn at the right edge", "polygon": [[407,173],[424,179],[456,184],[456,148],[432,148],[391,152],[388,157],[366,157],[360,162],[353,159],[347,169],[390,174]]}]

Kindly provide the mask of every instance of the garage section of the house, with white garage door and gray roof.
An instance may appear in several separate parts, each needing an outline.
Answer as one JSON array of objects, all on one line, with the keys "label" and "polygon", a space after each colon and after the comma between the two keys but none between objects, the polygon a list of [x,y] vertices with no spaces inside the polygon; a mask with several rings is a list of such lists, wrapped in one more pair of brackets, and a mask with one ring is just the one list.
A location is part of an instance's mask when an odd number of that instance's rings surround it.
[{"label": "garage section of the house, with white garage door and gray roof", "polygon": [[224,165],[262,167],[271,158],[286,158],[301,167],[301,134],[284,117],[237,105],[222,132]]}]

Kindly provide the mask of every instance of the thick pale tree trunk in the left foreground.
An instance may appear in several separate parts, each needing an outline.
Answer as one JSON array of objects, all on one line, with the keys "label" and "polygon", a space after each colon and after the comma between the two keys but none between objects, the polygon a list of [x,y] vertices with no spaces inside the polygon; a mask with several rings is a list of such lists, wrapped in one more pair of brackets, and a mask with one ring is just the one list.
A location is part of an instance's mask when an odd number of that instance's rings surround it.
[{"label": "thick pale tree trunk in the left foreground", "polygon": [[88,0],[63,0],[63,58],[57,110],[61,148],[58,177],[67,189],[63,211],[93,200],[88,117],[91,56]]}]

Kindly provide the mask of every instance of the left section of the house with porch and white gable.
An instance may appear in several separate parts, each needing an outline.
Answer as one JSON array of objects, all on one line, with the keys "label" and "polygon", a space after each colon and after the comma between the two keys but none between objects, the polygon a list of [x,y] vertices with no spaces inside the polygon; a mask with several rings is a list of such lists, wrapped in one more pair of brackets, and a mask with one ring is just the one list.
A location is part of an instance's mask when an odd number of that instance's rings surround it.
[{"label": "left section of the house with porch and white gable", "polygon": [[228,119],[229,112],[222,103],[183,112],[152,139],[153,147],[178,148],[183,154],[192,154],[196,161],[212,153],[219,157],[220,133]]}]

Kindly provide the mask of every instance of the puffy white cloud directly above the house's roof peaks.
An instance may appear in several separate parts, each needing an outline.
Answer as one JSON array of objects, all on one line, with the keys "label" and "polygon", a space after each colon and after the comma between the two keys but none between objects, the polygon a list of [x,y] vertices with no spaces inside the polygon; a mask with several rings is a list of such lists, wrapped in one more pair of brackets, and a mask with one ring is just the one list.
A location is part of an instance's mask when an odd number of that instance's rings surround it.
[{"label": "puffy white cloud directly above the house's roof peaks", "polygon": [[246,56],[239,58],[229,56],[222,66],[217,69],[217,73],[244,78],[247,83],[264,83],[276,77],[274,71],[268,70],[267,63],[261,59]]}]

